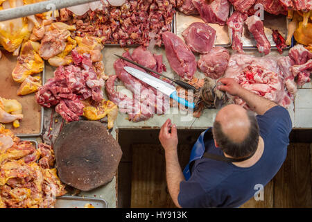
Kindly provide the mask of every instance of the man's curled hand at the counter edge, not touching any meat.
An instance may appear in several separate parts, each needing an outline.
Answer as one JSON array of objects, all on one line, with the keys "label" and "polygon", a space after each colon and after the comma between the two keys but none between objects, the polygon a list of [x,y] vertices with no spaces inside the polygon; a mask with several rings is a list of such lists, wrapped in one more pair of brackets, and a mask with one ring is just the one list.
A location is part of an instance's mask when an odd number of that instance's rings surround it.
[{"label": "man's curled hand at the counter edge, not touching any meat", "polygon": [[[171,133],[169,130],[171,130]],[[164,125],[162,125],[159,133],[159,141],[166,152],[177,150],[177,127],[174,124],[172,125],[171,119],[167,119]]]}]

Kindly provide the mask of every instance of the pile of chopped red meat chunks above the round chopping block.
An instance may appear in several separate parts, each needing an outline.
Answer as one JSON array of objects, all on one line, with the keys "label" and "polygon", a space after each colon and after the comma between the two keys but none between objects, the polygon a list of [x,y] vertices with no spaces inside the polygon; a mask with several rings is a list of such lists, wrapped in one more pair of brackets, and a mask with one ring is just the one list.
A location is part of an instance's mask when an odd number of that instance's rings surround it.
[{"label": "pile of chopped red meat chunks above the round chopping block", "polygon": [[78,54],[76,50],[72,51],[71,56],[73,64],[58,67],[55,77],[40,87],[36,94],[37,103],[44,108],[55,106],[56,112],[66,121],[76,121],[83,115],[82,100],[103,100],[101,88],[104,81],[96,75],[91,56]]}]

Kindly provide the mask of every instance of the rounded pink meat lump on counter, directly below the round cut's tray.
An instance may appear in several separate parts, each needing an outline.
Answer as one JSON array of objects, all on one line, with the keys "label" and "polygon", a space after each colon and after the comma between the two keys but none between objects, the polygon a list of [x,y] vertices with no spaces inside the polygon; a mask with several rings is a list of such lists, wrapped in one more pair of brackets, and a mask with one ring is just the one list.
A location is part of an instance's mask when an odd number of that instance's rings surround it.
[{"label": "rounded pink meat lump on counter, directly below the round cut's tray", "polygon": [[229,62],[229,51],[227,49],[216,46],[205,55],[200,55],[198,60],[198,68],[210,78],[220,78],[227,69]]}]

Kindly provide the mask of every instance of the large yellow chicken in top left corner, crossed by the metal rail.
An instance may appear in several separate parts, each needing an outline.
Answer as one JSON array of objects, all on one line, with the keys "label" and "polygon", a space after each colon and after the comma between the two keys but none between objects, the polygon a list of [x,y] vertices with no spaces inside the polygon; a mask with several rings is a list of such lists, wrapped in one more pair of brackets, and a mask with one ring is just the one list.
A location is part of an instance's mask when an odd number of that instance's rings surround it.
[{"label": "large yellow chicken in top left corner, crossed by the metal rail", "polygon": [[[5,1],[2,3],[3,9],[23,6],[22,0]],[[28,30],[26,18],[12,19],[0,22],[0,44],[9,52],[15,52],[19,49],[22,42],[31,35]]]}]

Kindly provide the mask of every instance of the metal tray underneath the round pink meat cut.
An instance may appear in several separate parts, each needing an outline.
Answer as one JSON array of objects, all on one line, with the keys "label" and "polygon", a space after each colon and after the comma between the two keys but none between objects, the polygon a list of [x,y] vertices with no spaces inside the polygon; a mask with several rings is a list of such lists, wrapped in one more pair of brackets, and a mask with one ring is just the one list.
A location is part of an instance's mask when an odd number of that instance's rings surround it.
[{"label": "metal tray underneath the round pink meat cut", "polygon": [[[229,15],[232,15],[233,8],[229,8]],[[182,32],[189,27],[193,22],[204,22],[200,18],[199,15],[184,15],[182,12],[177,12],[176,18],[176,34],[177,36],[182,37]],[[229,35],[229,28],[227,25],[220,26],[219,24],[210,24],[214,30],[216,30],[216,42],[214,43],[215,46],[223,46],[228,47],[232,45],[232,35]]]}]

